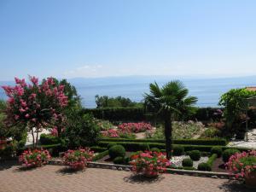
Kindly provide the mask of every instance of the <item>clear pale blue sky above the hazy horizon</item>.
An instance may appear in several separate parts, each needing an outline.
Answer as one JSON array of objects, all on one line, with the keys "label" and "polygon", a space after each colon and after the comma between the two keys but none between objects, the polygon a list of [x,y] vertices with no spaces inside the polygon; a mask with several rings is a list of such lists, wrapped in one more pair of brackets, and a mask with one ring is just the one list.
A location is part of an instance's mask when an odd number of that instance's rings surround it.
[{"label": "clear pale blue sky above the hazy horizon", "polygon": [[0,0],[0,80],[256,72],[254,0]]}]

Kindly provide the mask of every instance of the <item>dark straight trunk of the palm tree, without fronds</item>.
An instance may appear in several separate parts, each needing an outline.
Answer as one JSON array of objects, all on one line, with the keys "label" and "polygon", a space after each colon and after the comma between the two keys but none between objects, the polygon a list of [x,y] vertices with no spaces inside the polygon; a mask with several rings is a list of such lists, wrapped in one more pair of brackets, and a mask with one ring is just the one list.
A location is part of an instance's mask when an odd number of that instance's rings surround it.
[{"label": "dark straight trunk of the palm tree, without fronds", "polygon": [[171,113],[165,116],[165,136],[166,136],[166,159],[172,158],[172,119]]}]

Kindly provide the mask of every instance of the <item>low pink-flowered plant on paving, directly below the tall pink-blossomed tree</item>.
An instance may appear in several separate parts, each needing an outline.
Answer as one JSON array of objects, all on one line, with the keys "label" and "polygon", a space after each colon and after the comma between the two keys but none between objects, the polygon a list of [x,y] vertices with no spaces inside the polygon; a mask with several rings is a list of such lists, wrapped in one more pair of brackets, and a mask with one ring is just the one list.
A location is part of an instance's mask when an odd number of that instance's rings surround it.
[{"label": "low pink-flowered plant on paving, directly below the tall pink-blossomed tree", "polygon": [[48,150],[28,149],[20,155],[19,161],[25,167],[38,167],[46,164],[50,158]]}]

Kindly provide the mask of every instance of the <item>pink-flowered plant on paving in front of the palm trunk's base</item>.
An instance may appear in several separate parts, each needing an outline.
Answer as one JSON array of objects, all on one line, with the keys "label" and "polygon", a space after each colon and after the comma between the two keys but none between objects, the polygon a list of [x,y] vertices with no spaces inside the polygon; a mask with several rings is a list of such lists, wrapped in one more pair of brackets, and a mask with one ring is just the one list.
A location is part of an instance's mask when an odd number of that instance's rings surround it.
[{"label": "pink-flowered plant on paving in front of the palm trunk's base", "polygon": [[152,151],[133,154],[130,164],[133,172],[142,173],[149,177],[166,172],[166,167],[171,165],[170,161],[166,159],[166,154]]}]

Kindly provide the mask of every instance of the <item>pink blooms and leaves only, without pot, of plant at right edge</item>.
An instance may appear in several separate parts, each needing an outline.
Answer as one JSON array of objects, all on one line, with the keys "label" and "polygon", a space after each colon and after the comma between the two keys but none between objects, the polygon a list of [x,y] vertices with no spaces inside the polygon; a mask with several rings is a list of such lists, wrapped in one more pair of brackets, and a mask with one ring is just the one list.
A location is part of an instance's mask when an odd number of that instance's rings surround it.
[{"label": "pink blooms and leaves only, without pot, of plant at right edge", "polygon": [[232,155],[226,163],[226,168],[230,173],[234,173],[236,178],[247,177],[249,173],[256,172],[256,150]]}]

